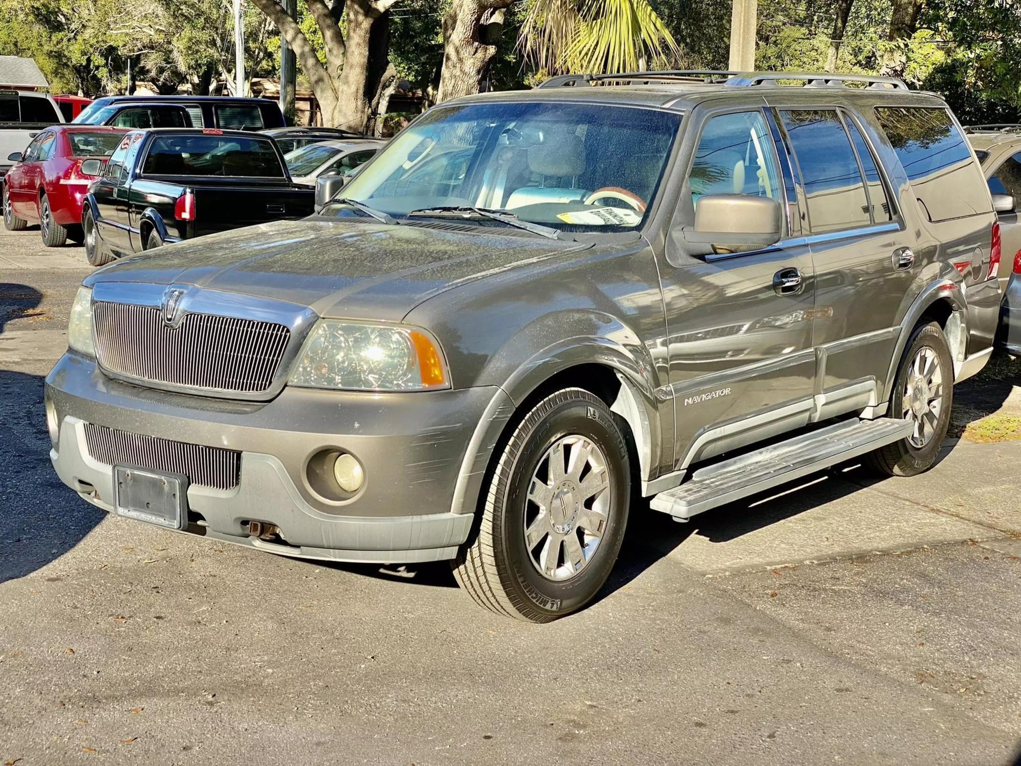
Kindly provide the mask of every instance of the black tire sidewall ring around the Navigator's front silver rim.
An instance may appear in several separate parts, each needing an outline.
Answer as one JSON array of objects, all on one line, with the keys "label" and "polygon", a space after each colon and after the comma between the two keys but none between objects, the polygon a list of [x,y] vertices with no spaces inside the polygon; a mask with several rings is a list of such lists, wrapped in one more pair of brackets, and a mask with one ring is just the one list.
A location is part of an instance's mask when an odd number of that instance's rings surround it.
[{"label": "black tire sidewall ring around the Navigator's front silver rim", "polygon": [[[627,526],[631,475],[627,446],[614,416],[594,395],[590,399],[561,402],[541,416],[507,445],[517,456],[503,486],[497,487],[499,504],[496,559],[503,586],[544,615],[562,616],[577,611],[602,588],[617,561]],[[560,438],[577,434],[591,439],[606,458],[613,497],[606,529],[599,547],[584,569],[564,582],[543,577],[533,566],[525,545],[524,517],[531,477],[546,450]],[[496,521],[496,520],[494,520]],[[503,561],[500,561],[503,559]]]}]

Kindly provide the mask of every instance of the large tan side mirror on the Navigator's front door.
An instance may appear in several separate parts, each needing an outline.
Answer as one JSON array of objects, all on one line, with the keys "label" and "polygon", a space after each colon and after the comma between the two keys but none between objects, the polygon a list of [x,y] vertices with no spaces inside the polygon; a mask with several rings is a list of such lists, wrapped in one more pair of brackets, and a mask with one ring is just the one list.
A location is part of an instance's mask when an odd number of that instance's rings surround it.
[{"label": "large tan side mirror on the Navigator's front door", "polygon": [[695,225],[685,227],[692,244],[768,247],[780,241],[780,203],[749,194],[711,194],[695,202]]}]

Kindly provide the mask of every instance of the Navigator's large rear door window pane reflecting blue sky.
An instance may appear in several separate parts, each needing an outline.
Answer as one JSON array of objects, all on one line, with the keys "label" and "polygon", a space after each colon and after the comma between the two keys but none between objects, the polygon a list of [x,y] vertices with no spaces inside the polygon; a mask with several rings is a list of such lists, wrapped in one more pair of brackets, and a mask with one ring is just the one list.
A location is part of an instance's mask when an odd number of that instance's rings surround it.
[{"label": "Navigator's large rear door window pane reflecting blue sky", "polygon": [[862,171],[836,110],[791,110],[780,115],[801,171],[812,232],[871,225]]}]

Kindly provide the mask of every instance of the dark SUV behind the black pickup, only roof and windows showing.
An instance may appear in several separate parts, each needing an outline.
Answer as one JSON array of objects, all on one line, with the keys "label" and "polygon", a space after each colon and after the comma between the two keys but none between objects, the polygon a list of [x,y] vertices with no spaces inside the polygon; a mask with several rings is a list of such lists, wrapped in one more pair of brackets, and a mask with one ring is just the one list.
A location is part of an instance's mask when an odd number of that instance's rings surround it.
[{"label": "dark SUV behind the black pickup, only roof and windows showing", "polygon": [[104,96],[75,117],[80,125],[116,128],[220,128],[260,131],[282,128],[276,101],[231,96]]}]

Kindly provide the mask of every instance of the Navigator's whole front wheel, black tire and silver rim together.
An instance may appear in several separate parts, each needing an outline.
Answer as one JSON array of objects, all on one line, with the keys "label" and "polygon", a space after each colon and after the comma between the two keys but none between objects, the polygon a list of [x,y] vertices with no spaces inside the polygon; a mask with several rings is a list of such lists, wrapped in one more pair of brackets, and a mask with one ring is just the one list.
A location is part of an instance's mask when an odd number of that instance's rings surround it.
[{"label": "Navigator's whole front wheel, black tire and silver rim together", "polygon": [[499,452],[473,538],[454,562],[481,606],[549,622],[602,588],[624,539],[631,468],[603,401],[565,388],[539,401]]}]

